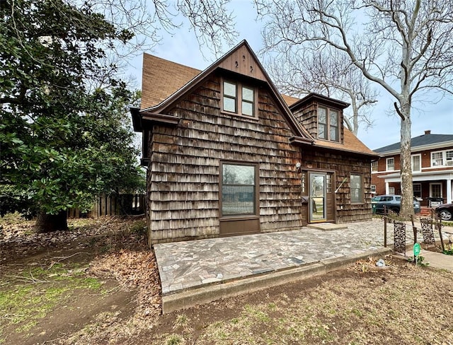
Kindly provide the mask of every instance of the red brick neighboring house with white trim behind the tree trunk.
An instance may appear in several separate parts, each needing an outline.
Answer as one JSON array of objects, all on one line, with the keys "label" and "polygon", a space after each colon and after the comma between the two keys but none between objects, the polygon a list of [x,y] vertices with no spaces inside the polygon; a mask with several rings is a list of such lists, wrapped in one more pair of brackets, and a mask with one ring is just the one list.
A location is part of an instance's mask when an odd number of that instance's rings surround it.
[{"label": "red brick neighboring house with white trim behind the tree trunk", "polygon": [[[377,194],[401,194],[400,143],[374,150],[372,189]],[[453,134],[425,134],[411,139],[413,194],[424,206],[453,202]]]}]

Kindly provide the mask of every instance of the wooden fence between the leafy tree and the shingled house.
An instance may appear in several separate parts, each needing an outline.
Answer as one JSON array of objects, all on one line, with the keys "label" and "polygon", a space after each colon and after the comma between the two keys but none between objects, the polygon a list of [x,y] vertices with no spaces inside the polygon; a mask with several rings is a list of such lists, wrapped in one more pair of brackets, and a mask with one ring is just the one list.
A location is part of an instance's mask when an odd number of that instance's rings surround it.
[{"label": "wooden fence between the leafy tree and the shingled house", "polygon": [[79,209],[69,209],[68,218],[131,216],[144,212],[145,194],[100,195],[94,200],[91,211],[82,213]]}]

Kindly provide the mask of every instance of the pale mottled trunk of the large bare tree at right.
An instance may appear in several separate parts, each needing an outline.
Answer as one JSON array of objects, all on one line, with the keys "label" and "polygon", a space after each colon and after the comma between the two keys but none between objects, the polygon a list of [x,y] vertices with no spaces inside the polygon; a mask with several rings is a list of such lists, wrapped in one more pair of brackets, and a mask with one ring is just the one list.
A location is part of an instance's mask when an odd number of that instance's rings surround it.
[{"label": "pale mottled trunk of the large bare tree at right", "polygon": [[413,184],[411,162],[411,104],[401,105],[401,211],[404,217],[413,215]]}]

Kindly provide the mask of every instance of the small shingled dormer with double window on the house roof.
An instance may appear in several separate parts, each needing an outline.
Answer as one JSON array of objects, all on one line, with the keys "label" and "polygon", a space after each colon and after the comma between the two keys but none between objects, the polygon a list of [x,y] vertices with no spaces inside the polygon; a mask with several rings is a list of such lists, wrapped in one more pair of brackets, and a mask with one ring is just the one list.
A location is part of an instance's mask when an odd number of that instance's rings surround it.
[{"label": "small shingled dormer with double window on the house roof", "polygon": [[289,109],[314,139],[343,144],[343,110],[348,106],[341,100],[310,93]]}]

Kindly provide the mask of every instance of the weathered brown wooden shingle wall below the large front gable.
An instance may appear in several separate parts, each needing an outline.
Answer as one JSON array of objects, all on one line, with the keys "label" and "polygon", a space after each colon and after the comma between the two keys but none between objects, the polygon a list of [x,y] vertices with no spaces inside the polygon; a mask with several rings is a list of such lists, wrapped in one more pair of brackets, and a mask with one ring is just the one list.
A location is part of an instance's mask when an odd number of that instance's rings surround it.
[{"label": "weathered brown wooden shingle wall below the large front gable", "polygon": [[220,112],[220,77],[212,76],[168,113],[178,127],[154,126],[149,149],[149,244],[219,235],[221,160],[259,163],[262,232],[302,226],[300,150],[267,90],[258,120]]}]

